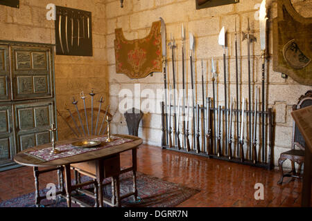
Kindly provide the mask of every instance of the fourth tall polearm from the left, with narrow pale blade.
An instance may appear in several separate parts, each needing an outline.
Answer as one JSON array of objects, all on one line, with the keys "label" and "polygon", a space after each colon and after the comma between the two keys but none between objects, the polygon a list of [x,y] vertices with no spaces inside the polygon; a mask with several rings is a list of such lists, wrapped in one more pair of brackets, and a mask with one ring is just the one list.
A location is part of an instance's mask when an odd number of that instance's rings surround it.
[{"label": "fourth tall polearm from the left, with narrow pale blade", "polygon": [[[191,63],[191,87],[192,87],[192,103],[193,103],[193,148],[196,148],[196,127],[195,127],[195,87],[194,87],[194,79],[193,79],[193,49],[194,49],[194,37],[192,33],[189,33],[189,60]],[[196,150],[199,153],[199,150]]]}]

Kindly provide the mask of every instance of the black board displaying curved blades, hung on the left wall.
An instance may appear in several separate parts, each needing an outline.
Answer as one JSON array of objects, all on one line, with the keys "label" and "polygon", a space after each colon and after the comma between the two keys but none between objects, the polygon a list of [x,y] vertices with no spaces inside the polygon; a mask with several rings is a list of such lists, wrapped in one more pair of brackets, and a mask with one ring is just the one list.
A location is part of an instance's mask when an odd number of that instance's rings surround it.
[{"label": "black board displaying curved blades, hung on the left wall", "polygon": [[93,56],[92,13],[55,6],[56,55]]}]

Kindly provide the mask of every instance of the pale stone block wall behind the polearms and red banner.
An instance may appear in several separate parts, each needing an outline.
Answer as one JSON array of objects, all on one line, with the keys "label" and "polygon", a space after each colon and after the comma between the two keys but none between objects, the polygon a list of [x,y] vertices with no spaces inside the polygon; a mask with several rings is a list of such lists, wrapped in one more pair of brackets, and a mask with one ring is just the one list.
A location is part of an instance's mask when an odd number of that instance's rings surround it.
[{"label": "pale stone block wall behind the polearms and red banner", "polygon": [[[269,28],[269,54],[272,55],[272,19],[277,16],[277,1],[267,1],[268,3],[268,28]],[[110,82],[110,104],[117,107],[121,99],[119,90],[128,88],[134,95],[135,84],[140,84],[141,90],[149,88],[156,92],[157,88],[164,88],[162,73],[154,73],[153,76],[144,79],[129,79],[123,74],[116,74],[114,60],[114,29],[123,28],[127,39],[137,39],[148,35],[153,21],[162,17],[166,22],[167,41],[172,34],[177,44],[175,49],[175,66],[177,75],[177,88],[182,88],[182,52],[181,52],[181,26],[186,29],[186,55],[187,58],[187,88],[190,86],[190,65],[189,65],[189,32],[192,32],[196,39],[195,49],[195,71],[196,71],[196,96],[201,104],[201,59],[204,61],[205,87],[208,87],[207,95],[212,97],[211,86],[211,57],[214,57],[217,64],[217,100],[218,104],[224,105],[223,95],[223,48],[218,45],[218,33],[222,26],[227,30],[227,81],[229,97],[236,96],[235,89],[235,57],[234,57],[234,21],[237,22],[238,32],[247,30],[247,18],[250,19],[251,33],[257,37],[257,42],[252,44],[252,88],[261,88],[261,50],[259,44],[259,21],[257,11],[261,0],[240,0],[239,3],[219,6],[216,8],[206,8],[196,10],[194,0],[125,0],[124,8],[119,7],[119,0],[105,1],[106,7],[106,51],[107,70]],[[295,8],[305,17],[312,16],[312,1],[293,1]],[[239,35],[239,81],[241,81],[239,93],[241,97],[248,98],[248,60],[247,42],[241,41]],[[168,43],[168,42],[167,42]],[[172,85],[172,61],[171,50],[168,48],[168,82]],[[286,151],[291,145],[291,133],[293,119],[291,117],[291,107],[297,102],[300,95],[311,86],[303,86],[293,81],[291,77],[284,79],[281,73],[272,70],[271,57],[267,62],[266,71],[266,92],[268,107],[272,107],[275,112],[275,165],[279,153]],[[254,94],[254,93],[252,93]],[[253,95],[254,96],[254,95]],[[141,97],[141,102],[144,97]],[[159,105],[159,104],[155,104]],[[160,146],[162,135],[161,115],[159,113],[145,113],[139,128],[139,136],[148,144]],[[113,131],[118,133],[128,133],[123,115],[119,113],[114,117]]]}]

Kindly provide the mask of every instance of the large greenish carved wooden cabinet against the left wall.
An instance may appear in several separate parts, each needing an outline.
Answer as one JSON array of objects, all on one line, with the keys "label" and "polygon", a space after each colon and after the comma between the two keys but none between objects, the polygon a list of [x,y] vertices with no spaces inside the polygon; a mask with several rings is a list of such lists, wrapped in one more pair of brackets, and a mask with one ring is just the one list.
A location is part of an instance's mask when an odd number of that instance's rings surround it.
[{"label": "large greenish carved wooden cabinet against the left wall", "polygon": [[51,142],[56,124],[53,45],[0,41],[0,171],[13,156]]}]

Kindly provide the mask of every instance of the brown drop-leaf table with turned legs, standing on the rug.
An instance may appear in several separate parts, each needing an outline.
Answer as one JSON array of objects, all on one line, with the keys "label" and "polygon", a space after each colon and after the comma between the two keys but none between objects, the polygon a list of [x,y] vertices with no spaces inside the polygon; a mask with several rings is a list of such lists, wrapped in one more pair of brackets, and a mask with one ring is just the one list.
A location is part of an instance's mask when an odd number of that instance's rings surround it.
[{"label": "brown drop-leaf table with turned legs, standing on the rug", "polygon": [[[135,195],[137,197],[137,184],[136,184],[136,171],[137,171],[137,147],[142,144],[142,140],[139,137],[130,136],[130,135],[116,135],[118,137],[124,137],[126,139],[131,139],[130,142],[125,142],[123,144],[119,144],[116,146],[110,146],[107,148],[100,148],[96,151],[90,151],[87,153],[80,153],[78,155],[71,155],[69,157],[63,157],[56,160],[51,161],[42,161],[37,157],[32,157],[31,155],[26,154],[30,151],[38,151],[44,148],[51,146],[51,144],[43,144],[40,146],[35,146],[29,148],[28,150],[21,151],[15,155],[14,160],[15,162],[26,165],[26,166],[35,166],[35,167],[46,167],[46,166],[63,166],[64,167],[64,174],[65,174],[65,190],[63,191],[62,196],[67,199],[67,206],[71,206],[71,201],[75,201],[79,203],[79,200],[73,198],[71,196],[71,192],[80,188],[81,186],[85,186],[85,184],[71,184],[71,165],[78,164],[82,162],[88,162],[89,165],[92,165],[92,169],[94,169],[94,177],[96,178],[96,182],[98,184],[98,205],[103,206],[103,180],[107,175],[112,175],[116,171],[120,171],[120,173],[125,173],[128,171],[133,171],[133,178],[134,178],[134,192],[129,193],[125,196],[119,197],[119,183],[117,180],[114,182],[114,187],[116,187],[116,198],[113,197],[112,201],[116,202],[116,204],[112,204],[105,200],[105,203],[110,204],[111,206],[120,206],[120,199],[128,197],[130,195]],[[88,139],[94,139],[98,136],[89,136],[85,137]],[[57,144],[71,144],[72,142],[80,140],[79,138],[72,138],[69,140],[63,140],[58,142]],[[105,145],[105,144],[100,144]],[[132,166],[128,169],[120,169],[120,165],[116,162],[119,162],[119,154],[124,151],[132,151]],[[89,174],[91,175],[91,174]],[[93,181],[89,182],[89,184],[94,184]],[[66,194],[65,194],[66,193]],[[82,203],[83,206],[87,206]]]}]

